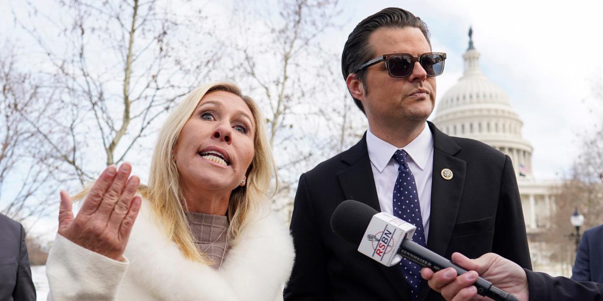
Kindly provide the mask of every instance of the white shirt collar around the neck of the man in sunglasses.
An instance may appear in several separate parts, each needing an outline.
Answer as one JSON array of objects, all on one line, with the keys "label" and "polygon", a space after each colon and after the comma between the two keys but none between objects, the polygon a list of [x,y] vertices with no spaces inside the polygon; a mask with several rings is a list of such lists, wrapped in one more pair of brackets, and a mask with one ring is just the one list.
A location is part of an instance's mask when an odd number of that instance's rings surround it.
[{"label": "white shirt collar around the neck of the man in sunglasses", "polygon": [[[369,128],[367,131],[367,149],[368,158],[371,163],[379,172],[383,172],[385,166],[390,163],[391,157],[398,150],[396,146],[381,140],[379,137],[374,135]],[[429,125],[425,123],[425,128],[418,134],[417,138],[414,138],[406,146],[402,147],[406,153],[408,153],[411,160],[417,164],[417,166],[423,170],[429,160],[429,155],[434,149],[434,135],[429,130]]]}]

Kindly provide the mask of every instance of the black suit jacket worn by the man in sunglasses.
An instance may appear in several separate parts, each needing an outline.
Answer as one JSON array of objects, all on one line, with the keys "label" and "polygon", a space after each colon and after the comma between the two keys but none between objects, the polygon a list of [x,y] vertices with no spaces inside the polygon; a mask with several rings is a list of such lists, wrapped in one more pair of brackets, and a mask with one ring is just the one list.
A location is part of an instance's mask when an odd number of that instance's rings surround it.
[{"label": "black suit jacket worn by the man in sunglasses", "polygon": [[[434,170],[428,248],[450,258],[498,253],[531,269],[522,206],[509,157],[479,141],[449,137],[432,123]],[[295,264],[285,300],[411,300],[399,267],[358,252],[330,228],[336,206],[353,199],[380,211],[366,135],[300,177],[291,232]],[[441,170],[452,170],[445,180]],[[421,300],[443,300],[423,281]]]}]

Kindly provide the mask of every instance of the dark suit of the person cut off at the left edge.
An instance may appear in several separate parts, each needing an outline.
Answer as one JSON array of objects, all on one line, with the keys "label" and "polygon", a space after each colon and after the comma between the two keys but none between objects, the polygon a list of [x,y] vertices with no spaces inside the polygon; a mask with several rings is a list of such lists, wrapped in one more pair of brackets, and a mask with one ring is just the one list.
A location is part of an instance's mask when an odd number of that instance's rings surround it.
[{"label": "dark suit of the person cut off at the left edge", "polygon": [[36,300],[25,230],[0,214],[0,300]]}]

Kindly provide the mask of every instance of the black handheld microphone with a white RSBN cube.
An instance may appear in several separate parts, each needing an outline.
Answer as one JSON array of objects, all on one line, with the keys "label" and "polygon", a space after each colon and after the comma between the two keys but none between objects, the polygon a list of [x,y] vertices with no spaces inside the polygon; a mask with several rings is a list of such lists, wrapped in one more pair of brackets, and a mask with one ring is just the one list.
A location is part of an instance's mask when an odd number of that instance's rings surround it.
[{"label": "black handheld microphone with a white RSBN cube", "polygon": [[[358,252],[391,267],[402,258],[428,267],[437,272],[452,267],[457,275],[467,270],[452,261],[432,252],[411,238],[416,227],[388,213],[377,213],[375,209],[356,200],[341,202],[331,217],[331,228],[339,237],[358,245]],[[479,277],[475,282],[478,294],[496,301],[518,301],[515,296]]]}]

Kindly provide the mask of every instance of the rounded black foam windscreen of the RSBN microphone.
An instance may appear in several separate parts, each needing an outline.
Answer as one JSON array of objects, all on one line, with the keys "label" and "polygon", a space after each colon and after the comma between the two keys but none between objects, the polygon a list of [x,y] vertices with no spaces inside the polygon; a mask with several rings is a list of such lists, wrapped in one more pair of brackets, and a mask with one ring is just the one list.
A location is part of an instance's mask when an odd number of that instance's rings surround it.
[{"label": "rounded black foam windscreen of the RSBN microphone", "polygon": [[344,200],[333,211],[331,229],[339,237],[359,246],[375,214],[377,211],[365,203]]}]

